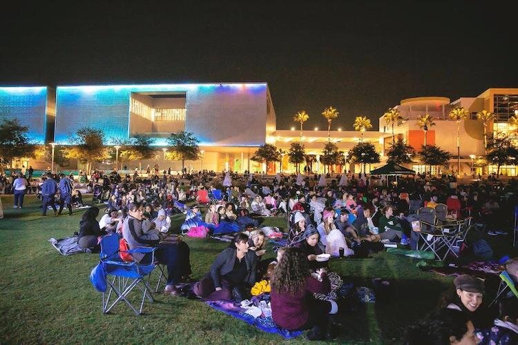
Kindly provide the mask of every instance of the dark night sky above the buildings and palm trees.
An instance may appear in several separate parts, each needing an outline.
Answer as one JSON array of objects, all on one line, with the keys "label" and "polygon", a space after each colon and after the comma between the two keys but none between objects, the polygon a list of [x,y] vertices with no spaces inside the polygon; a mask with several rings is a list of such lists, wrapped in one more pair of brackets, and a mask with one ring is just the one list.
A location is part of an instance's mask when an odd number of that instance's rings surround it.
[{"label": "dark night sky above the buildings and palm trees", "polygon": [[267,81],[279,129],[518,87],[518,1],[16,2],[1,85]]}]

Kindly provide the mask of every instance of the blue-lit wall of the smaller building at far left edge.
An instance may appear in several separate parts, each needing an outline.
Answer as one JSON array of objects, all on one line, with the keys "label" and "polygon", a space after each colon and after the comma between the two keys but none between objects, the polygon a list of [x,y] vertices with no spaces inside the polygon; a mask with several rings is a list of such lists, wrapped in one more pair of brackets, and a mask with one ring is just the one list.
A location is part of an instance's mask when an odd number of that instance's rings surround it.
[{"label": "blue-lit wall of the smaller building at far left edge", "polygon": [[[0,87],[0,120],[18,119],[29,128],[28,137],[44,144],[47,127],[47,94],[42,87]],[[51,105],[49,105],[52,107]],[[52,138],[48,138],[52,141]]]}]

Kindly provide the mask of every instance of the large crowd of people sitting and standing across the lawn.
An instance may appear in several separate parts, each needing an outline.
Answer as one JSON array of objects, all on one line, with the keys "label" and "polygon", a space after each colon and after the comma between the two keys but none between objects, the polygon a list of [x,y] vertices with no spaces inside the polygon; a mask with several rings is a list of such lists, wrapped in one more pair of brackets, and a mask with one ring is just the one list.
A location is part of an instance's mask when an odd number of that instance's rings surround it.
[{"label": "large crowd of people sitting and standing across the lawn", "polygon": [[[336,336],[334,322],[342,307],[336,291],[343,279],[320,258],[326,254],[366,257],[383,250],[387,242],[416,248],[419,238],[412,234],[412,215],[423,206],[438,204],[454,205],[457,217],[473,217],[486,224],[488,235],[506,235],[506,222],[518,204],[513,184],[456,186],[446,176],[402,178],[398,184],[385,186],[381,180],[351,173],[345,179],[329,177],[325,183],[316,175],[264,179],[252,174],[224,175],[222,184],[222,176],[213,172],[180,178],[155,170],[155,175],[142,178],[95,170],[90,186],[102,190],[99,201],[106,201],[106,210],[100,221],[96,220],[99,208],[85,211],[78,244],[96,251],[99,237],[119,233],[129,248],[156,246],[155,257],[167,267],[164,291],[178,295],[178,284],[193,283],[190,249],[179,233],[231,233],[229,247],[193,284],[193,293],[209,300],[239,301],[251,297],[254,286],[266,280],[278,326],[292,331],[311,329],[309,339],[329,339]],[[23,177],[13,185],[23,188]],[[65,206],[72,213],[74,190],[70,177],[48,173],[41,184],[43,215],[49,207],[56,215]],[[21,208],[23,196],[15,204]],[[171,217],[180,213],[186,215],[184,223],[171,228]],[[267,239],[278,239],[282,229],[261,228],[261,223],[265,217],[279,215],[287,217],[287,240],[276,257],[265,259]],[[151,256],[135,254],[133,259],[146,263]],[[513,277],[518,281],[518,261],[508,267],[515,270]],[[491,343],[494,337],[516,339],[515,300],[502,299],[499,314],[492,315],[482,303],[483,282],[461,276],[454,285],[456,295],[443,309],[430,315],[428,323],[409,328],[408,344],[471,344],[475,333],[487,344],[499,344]]]}]

